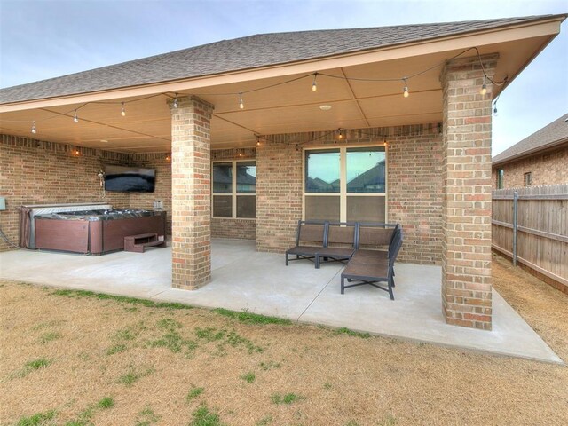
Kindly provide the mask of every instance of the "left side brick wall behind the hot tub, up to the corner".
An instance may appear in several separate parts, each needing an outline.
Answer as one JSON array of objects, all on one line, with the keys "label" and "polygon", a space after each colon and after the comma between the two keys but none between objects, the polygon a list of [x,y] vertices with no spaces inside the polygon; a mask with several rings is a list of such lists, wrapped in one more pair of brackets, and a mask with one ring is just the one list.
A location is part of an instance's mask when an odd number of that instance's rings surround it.
[{"label": "left side brick wall behind the hot tub, up to the corner", "polygon": [[[0,211],[0,226],[17,244],[21,204],[106,201],[117,209],[128,208],[128,193],[107,192],[102,198],[97,176],[104,164],[128,161],[128,154],[2,135],[0,195],[6,198],[6,210]],[[10,246],[0,239],[0,251],[7,249]]]}]

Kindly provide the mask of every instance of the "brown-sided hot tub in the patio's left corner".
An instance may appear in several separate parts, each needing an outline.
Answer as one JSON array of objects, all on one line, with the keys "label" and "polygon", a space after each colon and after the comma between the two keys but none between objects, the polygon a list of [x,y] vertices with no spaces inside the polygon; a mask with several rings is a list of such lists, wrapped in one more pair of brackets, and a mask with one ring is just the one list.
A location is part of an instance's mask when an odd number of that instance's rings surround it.
[{"label": "brown-sided hot tub in the patio's left corner", "polygon": [[166,237],[166,212],[140,209],[62,211],[36,215],[36,248],[102,255],[124,249],[124,237]]}]

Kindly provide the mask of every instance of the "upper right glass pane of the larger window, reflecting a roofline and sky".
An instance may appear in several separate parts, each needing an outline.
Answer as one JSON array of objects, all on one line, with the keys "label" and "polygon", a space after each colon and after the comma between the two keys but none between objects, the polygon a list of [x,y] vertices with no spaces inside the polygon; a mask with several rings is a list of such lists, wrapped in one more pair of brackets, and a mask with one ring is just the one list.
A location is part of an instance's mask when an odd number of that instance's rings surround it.
[{"label": "upper right glass pane of the larger window, reflecting a roofline and sky", "polygon": [[347,149],[347,192],[384,193],[385,157],[379,148]]}]

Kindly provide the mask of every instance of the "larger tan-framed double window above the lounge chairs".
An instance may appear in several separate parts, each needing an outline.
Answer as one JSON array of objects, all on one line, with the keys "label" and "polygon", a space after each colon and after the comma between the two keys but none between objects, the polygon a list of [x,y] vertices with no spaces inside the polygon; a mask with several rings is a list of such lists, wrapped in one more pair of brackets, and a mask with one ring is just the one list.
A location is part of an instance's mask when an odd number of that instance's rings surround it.
[{"label": "larger tan-framed double window above the lounge chairs", "polygon": [[383,146],[306,150],[304,170],[306,219],[386,220]]}]

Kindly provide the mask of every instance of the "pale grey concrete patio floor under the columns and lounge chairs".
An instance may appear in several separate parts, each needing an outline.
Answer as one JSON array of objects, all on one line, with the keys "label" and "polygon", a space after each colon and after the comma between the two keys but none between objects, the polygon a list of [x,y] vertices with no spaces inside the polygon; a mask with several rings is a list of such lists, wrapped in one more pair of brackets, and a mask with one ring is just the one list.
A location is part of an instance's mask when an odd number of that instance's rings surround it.
[{"label": "pale grey concrete patio floor under the columns and lounge chairs", "polygon": [[53,252],[0,253],[0,278],[87,289],[208,308],[248,310],[295,321],[347,327],[375,335],[563,363],[493,289],[493,331],[449,326],[441,312],[441,268],[397,264],[395,301],[377,288],[341,295],[342,264],[284,265],[284,256],[257,253],[254,241],[214,240],[212,279],[195,291],[170,287],[171,250],[78,256]]}]

